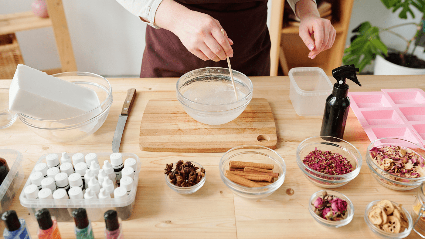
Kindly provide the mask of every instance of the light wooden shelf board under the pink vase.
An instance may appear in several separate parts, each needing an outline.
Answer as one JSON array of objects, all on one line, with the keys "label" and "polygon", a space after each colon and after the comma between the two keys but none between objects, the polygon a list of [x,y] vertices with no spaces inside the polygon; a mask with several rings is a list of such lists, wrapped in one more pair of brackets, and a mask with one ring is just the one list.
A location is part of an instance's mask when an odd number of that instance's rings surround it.
[{"label": "light wooden shelf board under the pink vase", "polygon": [[32,11],[0,15],[0,35],[50,27],[51,25],[52,21],[49,17],[37,17]]}]

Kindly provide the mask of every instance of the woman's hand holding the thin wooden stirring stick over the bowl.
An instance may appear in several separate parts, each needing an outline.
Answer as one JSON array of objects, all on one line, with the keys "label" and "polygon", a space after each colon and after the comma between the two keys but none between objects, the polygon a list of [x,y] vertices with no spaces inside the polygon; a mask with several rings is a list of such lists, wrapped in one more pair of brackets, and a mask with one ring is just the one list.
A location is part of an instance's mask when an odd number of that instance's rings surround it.
[{"label": "woman's hand holding the thin wooden stirring stick over the bowl", "polygon": [[223,36],[220,22],[208,14],[163,0],[156,11],[155,24],[176,34],[188,51],[204,61],[218,62],[233,56],[232,40],[226,31]]}]

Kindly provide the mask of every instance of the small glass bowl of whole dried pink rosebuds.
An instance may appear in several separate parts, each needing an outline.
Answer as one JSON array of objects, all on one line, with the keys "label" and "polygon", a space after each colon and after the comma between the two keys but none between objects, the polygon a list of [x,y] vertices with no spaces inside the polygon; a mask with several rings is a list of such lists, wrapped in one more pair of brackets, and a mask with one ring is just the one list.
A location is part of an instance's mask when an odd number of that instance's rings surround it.
[{"label": "small glass bowl of whole dried pink rosebuds", "polygon": [[340,192],[320,190],[310,197],[309,212],[321,225],[339,228],[353,219],[354,205]]}]

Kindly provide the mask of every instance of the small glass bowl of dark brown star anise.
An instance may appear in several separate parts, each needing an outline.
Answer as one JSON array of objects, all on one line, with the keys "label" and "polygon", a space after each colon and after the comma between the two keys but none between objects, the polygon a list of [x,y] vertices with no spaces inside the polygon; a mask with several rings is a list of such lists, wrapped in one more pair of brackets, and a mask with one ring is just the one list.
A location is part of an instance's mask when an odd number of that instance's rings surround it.
[{"label": "small glass bowl of dark brown star anise", "polygon": [[167,163],[164,174],[168,187],[179,194],[193,194],[205,183],[205,169],[193,161]]}]

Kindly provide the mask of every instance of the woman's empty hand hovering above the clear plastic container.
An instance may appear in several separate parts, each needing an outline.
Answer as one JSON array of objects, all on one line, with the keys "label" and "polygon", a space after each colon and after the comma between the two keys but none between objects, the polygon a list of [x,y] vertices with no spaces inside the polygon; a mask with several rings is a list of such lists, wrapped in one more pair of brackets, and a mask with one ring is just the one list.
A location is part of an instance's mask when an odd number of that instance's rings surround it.
[{"label": "woman's empty hand hovering above the clear plastic container", "polygon": [[[337,31],[331,25],[331,21],[319,17],[317,7],[312,0],[298,1],[295,11],[301,20],[299,35],[310,50],[309,58],[314,59],[317,54],[332,47]],[[314,41],[312,35],[314,35]]]}]

